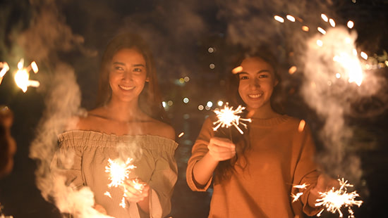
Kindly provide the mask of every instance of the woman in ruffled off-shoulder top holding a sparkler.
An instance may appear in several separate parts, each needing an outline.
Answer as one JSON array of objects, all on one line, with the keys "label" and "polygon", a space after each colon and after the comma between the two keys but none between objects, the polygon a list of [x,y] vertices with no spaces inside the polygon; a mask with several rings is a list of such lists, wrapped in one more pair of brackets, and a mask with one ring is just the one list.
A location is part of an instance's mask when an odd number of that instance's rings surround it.
[{"label": "woman in ruffled off-shoulder top holding a sparkler", "polygon": [[[150,49],[139,36],[120,34],[110,41],[102,56],[97,98],[97,108],[59,135],[59,152],[75,154],[73,167],[65,170],[68,183],[88,186],[95,209],[109,216],[166,216],[177,179],[177,143],[165,122]],[[108,188],[105,170],[108,160],[117,158],[134,159],[136,168],[125,189]]]}]

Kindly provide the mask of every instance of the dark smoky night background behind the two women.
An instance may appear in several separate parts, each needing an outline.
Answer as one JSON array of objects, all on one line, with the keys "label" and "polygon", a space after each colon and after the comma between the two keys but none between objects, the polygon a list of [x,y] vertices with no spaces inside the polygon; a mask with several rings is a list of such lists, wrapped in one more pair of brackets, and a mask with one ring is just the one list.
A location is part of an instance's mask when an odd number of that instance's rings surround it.
[{"label": "dark smoky night background behind the two women", "polygon": [[[304,4],[305,3],[305,4]],[[0,84],[0,104],[8,105],[15,114],[12,134],[18,144],[13,172],[0,181],[0,203],[4,212],[20,217],[59,217],[56,208],[44,201],[35,186],[36,162],[28,158],[30,143],[45,111],[47,91],[59,64],[71,66],[79,84],[81,106],[90,110],[95,103],[99,58],[107,41],[126,30],[138,32],[150,42],[157,62],[159,83],[164,101],[173,101],[167,113],[176,134],[185,132],[176,151],[178,183],[172,199],[172,217],[207,217],[210,193],[194,193],[186,185],[185,170],[201,124],[211,111],[198,110],[198,105],[222,99],[226,73],[231,66],[236,44],[260,43],[274,46],[279,53],[284,82],[286,113],[308,121],[317,147],[322,117],[303,102],[300,86],[303,73],[288,75],[286,69],[294,60],[288,54],[296,51],[295,25],[281,25],[272,16],[292,13],[313,25],[326,13],[344,25],[356,23],[358,49],[369,56],[382,56],[388,51],[388,1],[0,1],[0,61],[15,66],[36,60],[40,66],[32,79],[41,87],[26,93],[16,88],[12,69]],[[318,18],[316,18],[318,15]],[[233,29],[234,28],[234,29]],[[233,32],[231,30],[238,30]],[[303,38],[305,39],[305,38]],[[258,42],[260,41],[260,43]],[[208,48],[214,48],[209,53]],[[210,63],[215,68],[210,69]],[[387,79],[388,68],[372,72]],[[179,79],[190,77],[187,83]],[[356,129],[354,141],[361,160],[363,177],[358,190],[365,203],[355,208],[356,217],[386,217],[388,195],[388,90],[361,98],[354,103],[353,114],[346,124]],[[188,104],[183,103],[189,97]],[[61,96],[58,97],[59,99]],[[214,109],[214,108],[213,108]],[[319,150],[319,149],[318,149]],[[322,217],[336,217],[324,214]]]}]

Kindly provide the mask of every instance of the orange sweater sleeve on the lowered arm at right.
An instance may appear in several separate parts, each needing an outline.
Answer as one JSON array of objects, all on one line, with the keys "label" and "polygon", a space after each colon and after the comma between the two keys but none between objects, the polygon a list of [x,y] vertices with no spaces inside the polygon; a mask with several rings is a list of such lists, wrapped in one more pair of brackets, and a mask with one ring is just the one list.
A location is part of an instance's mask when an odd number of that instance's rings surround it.
[{"label": "orange sweater sleeve on the lowered arm at right", "polygon": [[[310,205],[308,205],[310,190],[317,184],[317,178],[319,176],[317,165],[314,160],[315,144],[310,127],[308,127],[307,124],[299,134],[301,134],[301,138],[299,138],[301,139],[301,151],[293,177],[293,184],[306,184],[308,186],[306,188],[292,188],[291,193],[293,193],[293,195],[296,195],[296,193],[303,193],[300,198],[300,201],[303,204],[303,212],[308,216],[314,216],[321,210],[320,207],[310,207]],[[298,206],[298,201],[293,203],[293,207],[300,207]]]}]

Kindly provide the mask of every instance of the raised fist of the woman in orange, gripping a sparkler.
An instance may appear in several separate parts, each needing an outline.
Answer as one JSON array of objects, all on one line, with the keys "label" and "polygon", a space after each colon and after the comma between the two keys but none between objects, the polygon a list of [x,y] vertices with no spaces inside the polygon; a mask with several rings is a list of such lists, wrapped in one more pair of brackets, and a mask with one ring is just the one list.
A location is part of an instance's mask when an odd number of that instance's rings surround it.
[{"label": "raised fist of the woman in orange, gripping a sparkler", "polygon": [[236,145],[230,139],[214,137],[210,139],[207,148],[216,161],[229,160],[236,155]]}]

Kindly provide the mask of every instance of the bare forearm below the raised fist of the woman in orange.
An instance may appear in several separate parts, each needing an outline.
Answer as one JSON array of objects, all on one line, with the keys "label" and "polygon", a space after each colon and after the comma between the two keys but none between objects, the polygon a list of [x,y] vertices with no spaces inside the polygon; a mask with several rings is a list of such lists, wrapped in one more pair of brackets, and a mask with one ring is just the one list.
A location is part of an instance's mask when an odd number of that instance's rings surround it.
[{"label": "bare forearm below the raised fist of the woman in orange", "polygon": [[193,179],[199,186],[205,186],[207,181],[212,177],[219,161],[214,160],[210,153],[195,163],[193,167]]}]

